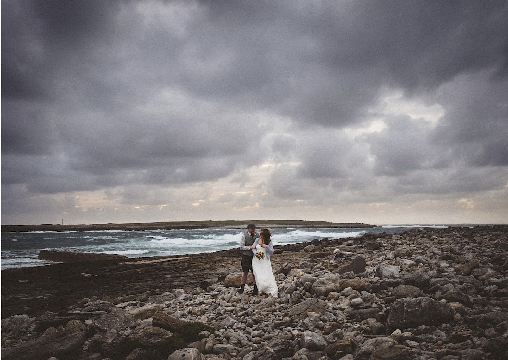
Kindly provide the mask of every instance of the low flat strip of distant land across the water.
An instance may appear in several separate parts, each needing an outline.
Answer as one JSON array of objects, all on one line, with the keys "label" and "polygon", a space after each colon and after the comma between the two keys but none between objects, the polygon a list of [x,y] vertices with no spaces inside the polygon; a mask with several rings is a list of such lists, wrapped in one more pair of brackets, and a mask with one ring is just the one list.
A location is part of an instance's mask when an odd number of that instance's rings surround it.
[{"label": "low flat strip of distant land across the water", "polygon": [[379,227],[364,223],[331,223],[328,221],[307,220],[208,220],[208,221],[167,221],[154,223],[126,223],[126,224],[89,224],[89,225],[1,225],[2,232],[28,232],[28,231],[103,231],[103,230],[193,230],[206,228],[246,228],[249,223],[256,224],[258,228],[372,228]]}]

